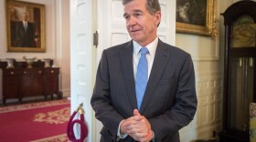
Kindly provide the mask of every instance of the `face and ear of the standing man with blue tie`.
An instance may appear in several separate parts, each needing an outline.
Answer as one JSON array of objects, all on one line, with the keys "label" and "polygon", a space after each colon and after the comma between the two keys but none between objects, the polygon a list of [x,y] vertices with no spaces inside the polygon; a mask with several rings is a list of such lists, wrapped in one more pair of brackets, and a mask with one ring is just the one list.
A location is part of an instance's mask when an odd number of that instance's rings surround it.
[{"label": "face and ear of the standing man with blue tie", "polygon": [[129,35],[138,44],[146,46],[155,39],[161,12],[150,15],[146,9],[146,0],[133,0],[124,5],[123,17]]}]

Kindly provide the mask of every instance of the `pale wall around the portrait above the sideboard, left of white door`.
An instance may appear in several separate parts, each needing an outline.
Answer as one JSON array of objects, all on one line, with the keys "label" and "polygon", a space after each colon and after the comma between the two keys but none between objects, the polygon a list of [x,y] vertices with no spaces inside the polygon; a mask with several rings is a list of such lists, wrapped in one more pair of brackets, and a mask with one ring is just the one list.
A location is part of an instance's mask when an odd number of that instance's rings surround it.
[{"label": "pale wall around the portrait above the sideboard, left of white door", "polygon": [[[69,96],[69,0],[26,0],[26,2],[45,5],[46,52],[6,52],[5,0],[2,0],[0,1],[0,31],[2,31],[0,33],[0,60],[5,58],[22,60],[23,56],[27,58],[37,57],[37,59],[52,58],[54,60],[54,66],[60,67],[59,87],[64,96]],[[2,88],[0,89],[2,90]],[[2,91],[0,91],[1,99]]]}]

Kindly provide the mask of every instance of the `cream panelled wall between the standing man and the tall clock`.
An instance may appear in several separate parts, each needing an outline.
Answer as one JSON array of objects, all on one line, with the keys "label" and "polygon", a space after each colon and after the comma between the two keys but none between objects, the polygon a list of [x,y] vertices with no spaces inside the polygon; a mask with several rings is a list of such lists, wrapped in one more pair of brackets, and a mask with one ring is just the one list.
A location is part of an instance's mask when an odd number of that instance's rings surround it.
[{"label": "cream panelled wall between the standing man and the tall clock", "polygon": [[215,138],[221,130],[224,25],[220,14],[237,1],[217,0],[217,36],[176,33],[176,46],[190,53],[194,61],[198,100],[196,117],[181,129],[181,141]]}]

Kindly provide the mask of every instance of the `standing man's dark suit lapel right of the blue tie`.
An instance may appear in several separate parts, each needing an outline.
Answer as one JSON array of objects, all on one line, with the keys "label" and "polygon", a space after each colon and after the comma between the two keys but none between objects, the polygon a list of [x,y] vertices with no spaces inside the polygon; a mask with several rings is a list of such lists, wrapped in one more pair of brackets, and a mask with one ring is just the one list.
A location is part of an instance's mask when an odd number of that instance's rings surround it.
[{"label": "standing man's dark suit lapel right of the blue tie", "polygon": [[154,63],[146,86],[143,103],[140,109],[141,113],[144,112],[145,107],[148,103],[150,103],[152,93],[155,91],[155,87],[157,86],[158,81],[160,80],[165,70],[165,66],[167,65],[169,54],[165,50],[167,50],[167,46],[165,46],[163,42],[159,39],[155,51]]}]

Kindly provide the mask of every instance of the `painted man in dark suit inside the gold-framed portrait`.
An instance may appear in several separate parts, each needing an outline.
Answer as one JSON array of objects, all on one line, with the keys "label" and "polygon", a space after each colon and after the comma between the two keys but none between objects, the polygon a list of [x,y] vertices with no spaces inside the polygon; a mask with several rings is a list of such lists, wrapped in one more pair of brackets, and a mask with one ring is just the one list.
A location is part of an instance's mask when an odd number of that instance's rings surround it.
[{"label": "painted man in dark suit inside the gold-framed portrait", "polygon": [[35,27],[33,23],[27,21],[27,13],[23,13],[21,16],[22,21],[16,23],[16,46],[36,47]]}]

